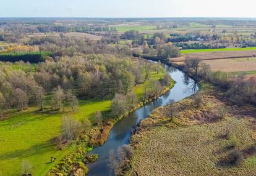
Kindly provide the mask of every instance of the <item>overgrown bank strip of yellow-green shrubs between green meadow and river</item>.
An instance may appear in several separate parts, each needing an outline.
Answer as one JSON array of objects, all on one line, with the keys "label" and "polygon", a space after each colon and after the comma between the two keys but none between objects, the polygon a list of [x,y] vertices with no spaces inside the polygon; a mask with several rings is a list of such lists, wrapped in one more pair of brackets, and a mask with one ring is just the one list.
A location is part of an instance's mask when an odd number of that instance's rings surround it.
[{"label": "overgrown bank strip of yellow-green shrubs between green meadow and river", "polygon": [[[155,79],[158,77],[159,76],[153,76],[153,78]],[[67,154],[63,159],[61,159],[61,161],[48,172],[48,175],[56,175],[70,172],[72,174],[87,174],[88,168],[85,166],[85,164],[88,164],[88,162],[92,161],[88,161],[88,159],[85,156],[88,152],[92,151],[91,147],[103,145],[108,139],[109,131],[112,129],[116,122],[120,121],[122,118],[132,113],[132,111],[137,110],[143,105],[152,102],[159,96],[165,94],[169,89],[171,89],[174,86],[174,84],[175,82],[172,80],[171,84],[169,86],[164,87],[159,95],[153,98],[149,98],[147,100],[143,100],[143,102],[140,102],[137,106],[135,106],[134,109],[127,111],[127,113],[125,113],[122,116],[119,116],[119,118],[110,118],[107,121],[105,121],[101,126],[94,127],[88,135],[84,134],[80,138],[75,140],[71,144],[71,148],[73,148],[73,150],[69,154]],[[96,159],[96,155],[93,155],[93,158]],[[93,159],[93,161],[95,161],[95,159]]]}]

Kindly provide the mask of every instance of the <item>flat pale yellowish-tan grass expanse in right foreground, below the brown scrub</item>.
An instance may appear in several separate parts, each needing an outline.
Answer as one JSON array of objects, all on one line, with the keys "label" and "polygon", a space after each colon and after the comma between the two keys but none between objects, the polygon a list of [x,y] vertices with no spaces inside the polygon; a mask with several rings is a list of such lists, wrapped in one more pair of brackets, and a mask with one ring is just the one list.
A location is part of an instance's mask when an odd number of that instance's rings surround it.
[{"label": "flat pale yellowish-tan grass expanse in right foreground, below the brown scrub", "polygon": [[135,171],[139,175],[255,175],[254,154],[238,166],[218,166],[231,152],[227,148],[230,141],[220,137],[227,127],[236,135],[239,150],[255,144],[246,119],[176,129],[156,127],[147,134],[140,133],[127,175]]}]

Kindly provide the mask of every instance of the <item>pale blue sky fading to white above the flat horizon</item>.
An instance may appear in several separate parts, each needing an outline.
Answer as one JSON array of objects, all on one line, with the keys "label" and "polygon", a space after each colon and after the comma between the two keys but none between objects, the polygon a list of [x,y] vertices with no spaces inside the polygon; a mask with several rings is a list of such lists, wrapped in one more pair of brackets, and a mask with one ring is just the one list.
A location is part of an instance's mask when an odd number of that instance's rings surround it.
[{"label": "pale blue sky fading to white above the flat horizon", "polygon": [[0,17],[255,18],[255,7],[255,0],[0,0]]}]

